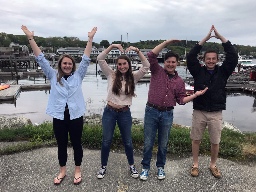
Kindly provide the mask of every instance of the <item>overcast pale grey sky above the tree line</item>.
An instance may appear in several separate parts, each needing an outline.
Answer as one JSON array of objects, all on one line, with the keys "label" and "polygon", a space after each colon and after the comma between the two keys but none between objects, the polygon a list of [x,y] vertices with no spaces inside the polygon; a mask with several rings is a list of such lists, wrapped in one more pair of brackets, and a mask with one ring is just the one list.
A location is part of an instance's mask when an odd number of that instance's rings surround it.
[{"label": "overcast pale grey sky above the tree line", "polygon": [[[214,25],[232,44],[256,46],[255,0],[0,0],[0,32],[36,36],[77,36],[93,41],[202,40]],[[212,35],[214,35],[212,33]],[[125,39],[126,41],[126,39]],[[209,42],[220,40],[211,38]]]}]

